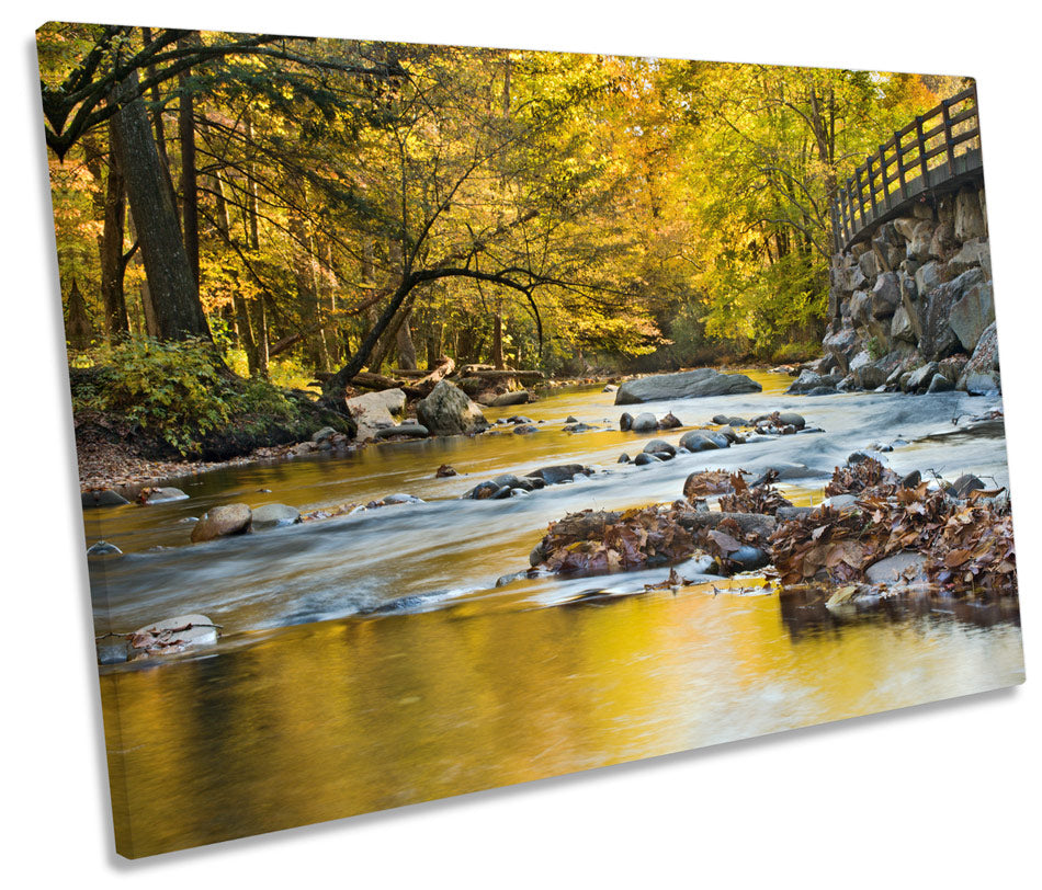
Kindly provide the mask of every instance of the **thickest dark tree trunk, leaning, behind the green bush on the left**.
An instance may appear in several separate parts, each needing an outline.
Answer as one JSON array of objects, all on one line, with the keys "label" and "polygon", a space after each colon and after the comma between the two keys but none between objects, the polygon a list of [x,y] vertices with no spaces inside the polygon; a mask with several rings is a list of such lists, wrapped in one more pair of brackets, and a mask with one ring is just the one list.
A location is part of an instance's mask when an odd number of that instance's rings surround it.
[{"label": "thickest dark tree trunk, leaning, behind the green bush on the left", "polygon": [[114,90],[120,112],[113,115],[113,149],[126,176],[131,213],[140,242],[148,288],[163,340],[200,336],[211,340],[209,327],[199,301],[199,290],[178,214],[163,185],[156,140],[145,102],[128,99],[137,90],[132,72]]}]

